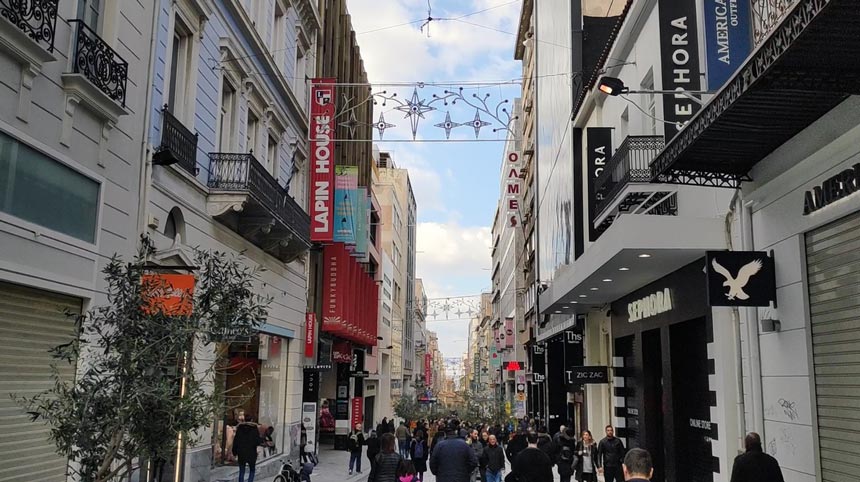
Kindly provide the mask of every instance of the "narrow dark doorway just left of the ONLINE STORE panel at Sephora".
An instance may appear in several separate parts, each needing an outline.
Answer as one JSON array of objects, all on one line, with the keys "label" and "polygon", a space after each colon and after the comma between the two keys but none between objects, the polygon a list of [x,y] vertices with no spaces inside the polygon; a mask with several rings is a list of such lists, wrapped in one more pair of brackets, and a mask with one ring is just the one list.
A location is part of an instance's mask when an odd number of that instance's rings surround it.
[{"label": "narrow dark doorway just left of the ONLINE STORE panel at Sephora", "polygon": [[[665,480],[666,444],[663,440],[663,349],[660,329],[642,332],[642,408],[645,449],[654,461],[653,480]],[[640,439],[641,440],[641,439]],[[683,480],[683,479],[679,479]]]}]

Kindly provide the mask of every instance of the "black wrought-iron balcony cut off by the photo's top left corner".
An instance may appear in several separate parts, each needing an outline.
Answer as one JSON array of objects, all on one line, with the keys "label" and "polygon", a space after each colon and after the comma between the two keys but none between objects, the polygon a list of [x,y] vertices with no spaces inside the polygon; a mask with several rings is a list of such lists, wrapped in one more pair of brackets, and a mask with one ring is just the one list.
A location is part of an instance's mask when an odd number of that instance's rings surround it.
[{"label": "black wrought-iron balcony cut off by the photo's top left corner", "polygon": [[0,0],[0,46],[20,61],[41,66],[54,60],[59,0]]}]

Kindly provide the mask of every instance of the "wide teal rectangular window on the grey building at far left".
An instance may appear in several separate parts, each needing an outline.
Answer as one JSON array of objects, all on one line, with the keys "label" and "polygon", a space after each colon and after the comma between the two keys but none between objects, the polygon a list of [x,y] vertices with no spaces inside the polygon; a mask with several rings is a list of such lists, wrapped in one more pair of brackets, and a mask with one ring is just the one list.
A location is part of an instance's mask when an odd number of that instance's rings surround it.
[{"label": "wide teal rectangular window on the grey building at far left", "polygon": [[99,184],[0,132],[0,211],[95,243]]}]

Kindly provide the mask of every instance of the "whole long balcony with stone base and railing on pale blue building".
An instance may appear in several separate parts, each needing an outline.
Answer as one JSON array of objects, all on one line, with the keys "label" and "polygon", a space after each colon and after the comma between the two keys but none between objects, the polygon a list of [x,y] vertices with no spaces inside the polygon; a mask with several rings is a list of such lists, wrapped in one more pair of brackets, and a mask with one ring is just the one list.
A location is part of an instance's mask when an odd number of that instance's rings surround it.
[{"label": "whole long balcony with stone base and railing on pale blue building", "polygon": [[310,246],[310,217],[253,154],[209,154],[207,210],[255,246],[288,263]]}]

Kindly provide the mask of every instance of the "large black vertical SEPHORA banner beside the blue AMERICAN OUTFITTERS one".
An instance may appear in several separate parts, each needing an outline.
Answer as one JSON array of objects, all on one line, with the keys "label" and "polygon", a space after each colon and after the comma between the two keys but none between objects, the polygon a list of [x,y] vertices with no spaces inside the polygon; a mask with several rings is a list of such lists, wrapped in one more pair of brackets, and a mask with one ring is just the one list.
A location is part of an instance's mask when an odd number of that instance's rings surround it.
[{"label": "large black vertical SEPHORA banner beside the blue AMERICAN OUTFITTERS one", "polygon": [[[663,90],[701,90],[697,0],[659,0],[660,58]],[[682,94],[664,95],[663,119],[668,142],[701,107]]]}]

